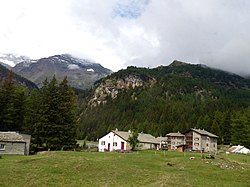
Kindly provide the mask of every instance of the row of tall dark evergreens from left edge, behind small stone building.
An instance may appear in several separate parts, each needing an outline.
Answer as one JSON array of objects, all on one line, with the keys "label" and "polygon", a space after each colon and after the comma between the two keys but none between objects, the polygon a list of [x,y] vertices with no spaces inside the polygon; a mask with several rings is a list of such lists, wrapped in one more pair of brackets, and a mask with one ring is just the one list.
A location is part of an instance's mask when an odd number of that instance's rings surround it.
[{"label": "row of tall dark evergreens from left edge, behind small stone building", "polygon": [[30,134],[34,147],[63,149],[76,145],[77,99],[67,78],[55,76],[31,92],[13,83],[13,73],[1,81],[0,131]]}]

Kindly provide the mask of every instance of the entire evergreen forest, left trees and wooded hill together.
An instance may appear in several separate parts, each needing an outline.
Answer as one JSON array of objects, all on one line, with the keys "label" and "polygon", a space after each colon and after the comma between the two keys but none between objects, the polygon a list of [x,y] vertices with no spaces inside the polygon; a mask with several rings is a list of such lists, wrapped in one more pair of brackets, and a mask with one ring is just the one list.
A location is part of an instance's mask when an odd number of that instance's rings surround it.
[{"label": "entire evergreen forest, left trees and wooded hill together", "polygon": [[90,90],[73,90],[67,78],[54,77],[30,91],[11,72],[0,82],[0,131],[31,134],[35,147],[73,147],[76,139],[97,140],[115,128],[165,136],[191,127],[218,135],[219,143],[250,148],[249,79],[175,61],[128,67]]}]

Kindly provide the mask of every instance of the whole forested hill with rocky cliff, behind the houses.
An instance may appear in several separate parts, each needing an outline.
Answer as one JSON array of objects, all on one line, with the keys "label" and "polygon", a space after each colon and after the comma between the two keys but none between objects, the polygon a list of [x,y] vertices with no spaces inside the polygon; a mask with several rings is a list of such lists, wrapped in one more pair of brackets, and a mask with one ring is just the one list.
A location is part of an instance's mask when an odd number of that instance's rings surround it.
[{"label": "whole forested hill with rocky cliff, behind the houses", "polygon": [[239,133],[250,140],[249,88],[248,79],[202,65],[128,67],[98,81],[83,101],[78,138],[96,140],[115,128],[165,136],[196,127],[221,143],[241,143]]}]

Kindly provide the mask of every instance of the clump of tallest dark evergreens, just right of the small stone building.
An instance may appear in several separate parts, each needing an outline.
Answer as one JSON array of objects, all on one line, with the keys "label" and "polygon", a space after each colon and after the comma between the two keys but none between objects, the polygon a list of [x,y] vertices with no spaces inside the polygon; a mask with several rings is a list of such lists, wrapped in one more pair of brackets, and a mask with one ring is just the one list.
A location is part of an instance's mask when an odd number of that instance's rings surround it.
[{"label": "clump of tallest dark evergreens, just right of the small stone building", "polygon": [[26,129],[34,135],[34,144],[50,149],[76,144],[76,97],[67,78],[60,85],[55,76],[50,82],[45,80],[41,91],[31,95],[27,103],[31,110],[27,112]]}]

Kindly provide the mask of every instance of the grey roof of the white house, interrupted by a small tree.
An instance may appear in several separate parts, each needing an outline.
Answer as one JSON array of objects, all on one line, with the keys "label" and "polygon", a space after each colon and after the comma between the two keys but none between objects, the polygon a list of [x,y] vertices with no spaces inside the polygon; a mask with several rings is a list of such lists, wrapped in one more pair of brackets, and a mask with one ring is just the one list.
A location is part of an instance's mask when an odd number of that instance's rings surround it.
[{"label": "grey roof of the white house, interrupted by a small tree", "polygon": [[[118,136],[120,136],[124,140],[128,140],[129,136],[132,134],[131,132],[126,132],[126,131],[112,131]],[[145,133],[138,133],[138,140],[140,143],[154,143],[154,144],[159,144],[159,141],[152,136],[151,134],[145,134]]]}]

